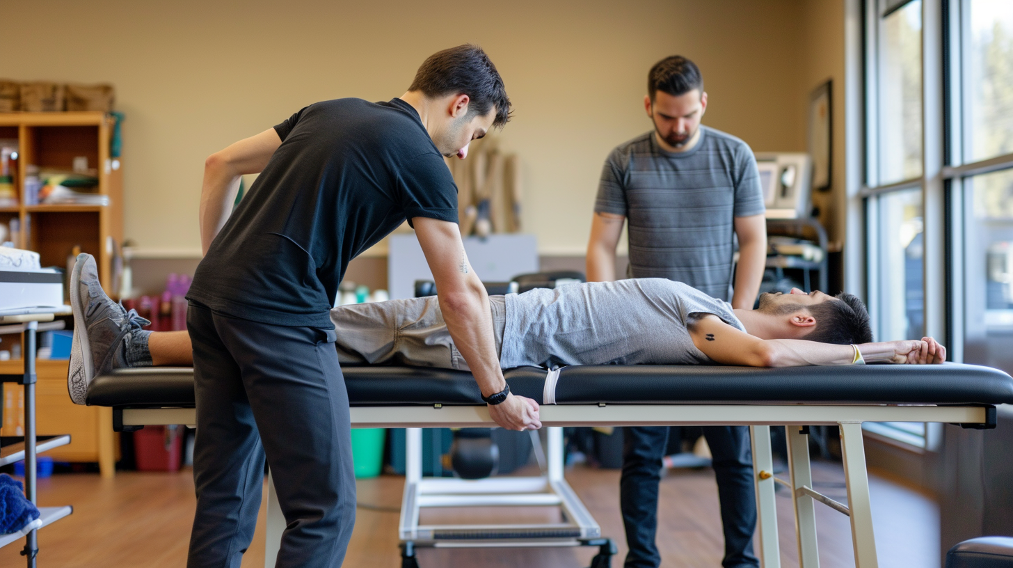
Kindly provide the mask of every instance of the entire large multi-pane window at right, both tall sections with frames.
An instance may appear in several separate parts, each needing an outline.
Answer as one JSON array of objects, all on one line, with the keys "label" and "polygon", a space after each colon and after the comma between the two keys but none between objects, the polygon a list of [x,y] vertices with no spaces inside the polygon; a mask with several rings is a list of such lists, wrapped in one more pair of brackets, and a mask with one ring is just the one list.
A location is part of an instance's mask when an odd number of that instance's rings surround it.
[{"label": "entire large multi-pane window at right, both tall sections with frames", "polygon": [[[876,337],[931,334],[952,360],[1013,372],[1013,0],[864,10],[859,213]],[[923,425],[874,428],[925,445]]]}]

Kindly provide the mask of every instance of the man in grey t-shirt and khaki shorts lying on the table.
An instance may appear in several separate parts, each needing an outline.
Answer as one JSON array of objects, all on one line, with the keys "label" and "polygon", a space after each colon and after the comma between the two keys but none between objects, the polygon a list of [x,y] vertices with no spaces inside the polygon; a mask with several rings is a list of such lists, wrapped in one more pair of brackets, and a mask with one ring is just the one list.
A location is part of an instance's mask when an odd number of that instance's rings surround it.
[{"label": "man in grey t-shirt and khaki shorts lying on the table", "polygon": [[[93,264],[92,260],[88,262]],[[109,299],[96,271],[80,271],[70,361],[71,397],[115,367],[192,364],[186,332],[148,332],[147,321]],[[490,296],[502,368],[598,364],[758,367],[941,363],[932,338],[872,343],[868,312],[851,294],[765,293],[758,309],[732,309],[661,278],[589,282]],[[330,310],[342,364],[396,363],[468,370],[436,296]]]}]

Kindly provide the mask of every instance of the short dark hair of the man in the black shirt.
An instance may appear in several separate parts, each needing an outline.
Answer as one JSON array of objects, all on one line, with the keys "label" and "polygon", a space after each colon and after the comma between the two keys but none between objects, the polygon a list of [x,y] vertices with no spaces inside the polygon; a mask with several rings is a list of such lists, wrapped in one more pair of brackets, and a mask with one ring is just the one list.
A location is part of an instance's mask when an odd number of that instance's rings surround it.
[{"label": "short dark hair of the man in the black shirt", "polygon": [[425,96],[467,94],[468,115],[485,116],[495,109],[492,126],[510,122],[511,102],[502,77],[482,48],[465,44],[437,52],[422,62],[408,90]]}]

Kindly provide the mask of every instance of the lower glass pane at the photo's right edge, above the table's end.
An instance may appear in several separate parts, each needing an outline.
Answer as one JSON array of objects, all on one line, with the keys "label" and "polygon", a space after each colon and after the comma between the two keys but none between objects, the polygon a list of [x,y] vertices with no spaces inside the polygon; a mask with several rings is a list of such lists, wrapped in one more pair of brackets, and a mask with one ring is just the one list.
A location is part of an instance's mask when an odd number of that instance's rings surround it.
[{"label": "lower glass pane at the photo's right edge, above the table's end", "polygon": [[967,363],[1013,371],[1013,170],[964,181]]}]

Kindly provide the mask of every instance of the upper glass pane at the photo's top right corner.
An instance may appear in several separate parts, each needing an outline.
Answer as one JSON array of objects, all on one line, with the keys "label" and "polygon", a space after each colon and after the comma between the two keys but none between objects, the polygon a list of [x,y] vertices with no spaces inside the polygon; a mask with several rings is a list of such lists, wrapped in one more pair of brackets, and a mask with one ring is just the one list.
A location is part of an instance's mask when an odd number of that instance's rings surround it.
[{"label": "upper glass pane at the photo's top right corner", "polygon": [[971,0],[964,36],[966,161],[1013,152],[1013,2]]}]

